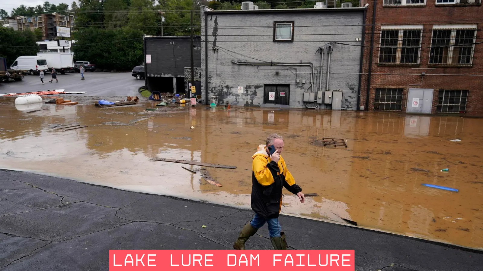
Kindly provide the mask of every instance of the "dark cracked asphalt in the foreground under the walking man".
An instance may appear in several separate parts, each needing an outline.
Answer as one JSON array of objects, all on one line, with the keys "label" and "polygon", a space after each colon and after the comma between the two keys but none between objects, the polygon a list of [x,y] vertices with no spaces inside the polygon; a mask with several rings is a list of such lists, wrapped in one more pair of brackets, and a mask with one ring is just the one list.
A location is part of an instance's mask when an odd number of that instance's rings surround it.
[{"label": "dark cracked asphalt in the foreground under the walking man", "polygon": [[[231,249],[252,216],[251,210],[0,170],[0,270],[108,270],[109,249]],[[281,216],[280,223],[292,249],[354,249],[357,271],[483,266],[482,251],[298,217]],[[267,227],[247,247],[271,249]]]}]

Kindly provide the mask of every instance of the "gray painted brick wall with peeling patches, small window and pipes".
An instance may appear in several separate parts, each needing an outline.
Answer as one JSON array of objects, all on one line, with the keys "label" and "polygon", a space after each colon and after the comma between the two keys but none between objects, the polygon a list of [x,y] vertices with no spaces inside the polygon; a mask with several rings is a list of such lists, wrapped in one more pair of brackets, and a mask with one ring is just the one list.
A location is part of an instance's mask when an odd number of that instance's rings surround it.
[{"label": "gray painted brick wall with peeling patches, small window and pipes", "polygon": [[[204,13],[204,10],[208,10]],[[290,85],[290,107],[304,108],[303,92],[311,83],[311,68],[298,66],[245,66],[232,61],[312,62],[312,90],[319,90],[319,47],[328,42],[361,45],[363,11],[216,13],[201,8],[202,94],[205,95],[205,19],[208,21],[208,95],[219,104],[263,104],[264,84]],[[294,21],[294,42],[273,42],[273,22]],[[214,46],[215,45],[215,46]],[[343,92],[342,108],[356,109],[360,46],[335,44],[330,59],[329,90]],[[327,53],[324,53],[321,91],[326,90]],[[306,83],[296,83],[305,80]],[[238,93],[238,86],[243,93]],[[322,104],[319,108],[326,108]],[[328,106],[330,108],[330,105]]]}]

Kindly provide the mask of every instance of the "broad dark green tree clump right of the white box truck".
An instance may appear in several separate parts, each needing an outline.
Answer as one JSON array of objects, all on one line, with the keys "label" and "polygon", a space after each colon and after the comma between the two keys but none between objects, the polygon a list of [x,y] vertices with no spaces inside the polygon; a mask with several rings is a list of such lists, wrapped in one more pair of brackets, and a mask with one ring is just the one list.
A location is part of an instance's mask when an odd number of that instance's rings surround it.
[{"label": "broad dark green tree clump right of the white box truck", "polygon": [[75,60],[88,59],[101,69],[130,70],[144,59],[140,30],[88,27],[77,32],[72,45]]}]

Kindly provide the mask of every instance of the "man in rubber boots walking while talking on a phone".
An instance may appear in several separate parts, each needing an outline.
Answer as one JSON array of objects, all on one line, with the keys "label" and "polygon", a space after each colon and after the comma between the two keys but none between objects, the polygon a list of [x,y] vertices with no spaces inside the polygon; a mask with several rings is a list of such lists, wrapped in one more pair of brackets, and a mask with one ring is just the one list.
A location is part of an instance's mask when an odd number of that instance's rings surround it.
[{"label": "man in rubber boots walking while talking on a phone", "polygon": [[273,247],[287,249],[285,233],[281,231],[278,221],[282,209],[282,187],[296,194],[300,203],[305,201],[302,189],[295,184],[294,177],[280,156],[284,151],[282,136],[271,134],[266,143],[267,145],[258,146],[258,151],[252,156],[252,210],[255,211],[255,217],[241,230],[240,236],[233,244],[234,249],[245,249],[248,238],[265,223],[269,226]]}]

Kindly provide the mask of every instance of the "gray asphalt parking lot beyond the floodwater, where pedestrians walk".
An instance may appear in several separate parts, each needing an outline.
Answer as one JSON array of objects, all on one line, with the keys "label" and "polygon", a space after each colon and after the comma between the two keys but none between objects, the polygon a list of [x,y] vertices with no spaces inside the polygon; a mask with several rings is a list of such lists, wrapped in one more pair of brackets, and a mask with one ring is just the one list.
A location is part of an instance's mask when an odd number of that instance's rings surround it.
[{"label": "gray asphalt parking lot beyond the floodwater, where pedestrians walk", "polygon": [[144,80],[136,80],[130,72],[85,72],[85,80],[80,73],[57,74],[58,83],[50,81],[50,73],[45,74],[42,84],[38,75],[26,75],[22,81],[0,83],[2,93],[26,93],[54,89],[65,91],[86,91],[83,96],[133,96],[139,95],[138,88]]}]

